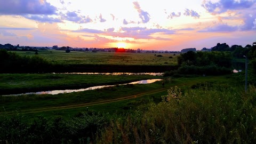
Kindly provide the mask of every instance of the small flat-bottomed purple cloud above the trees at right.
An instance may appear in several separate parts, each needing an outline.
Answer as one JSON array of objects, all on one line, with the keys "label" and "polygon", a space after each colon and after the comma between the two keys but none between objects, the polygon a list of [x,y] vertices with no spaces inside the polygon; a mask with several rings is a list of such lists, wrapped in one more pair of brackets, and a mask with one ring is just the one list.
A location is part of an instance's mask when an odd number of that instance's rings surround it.
[{"label": "small flat-bottomed purple cloud above the trees at right", "polygon": [[210,33],[214,33],[214,32],[231,32],[231,31],[237,31],[238,27],[237,26],[229,26],[227,24],[221,24],[221,25],[217,25],[211,28],[206,28],[204,30],[199,30],[198,32],[210,32]]}]

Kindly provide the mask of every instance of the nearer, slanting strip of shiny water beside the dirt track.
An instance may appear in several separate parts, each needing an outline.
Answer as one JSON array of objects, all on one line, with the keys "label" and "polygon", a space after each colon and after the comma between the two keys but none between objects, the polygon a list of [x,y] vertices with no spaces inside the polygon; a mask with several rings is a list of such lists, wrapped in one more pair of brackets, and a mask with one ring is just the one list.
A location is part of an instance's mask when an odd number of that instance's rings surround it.
[{"label": "nearer, slanting strip of shiny water beside the dirt track", "polygon": [[[131,82],[127,84],[150,84],[157,81],[162,81],[162,79],[147,79],[137,82]],[[119,85],[127,85],[127,84],[119,84]],[[42,92],[28,92],[28,93],[21,93],[21,94],[10,94],[10,95],[3,95],[3,96],[18,96],[23,94],[60,94],[60,93],[71,93],[71,92],[82,92],[82,91],[89,91],[89,90],[95,90],[95,89],[102,89],[104,87],[111,87],[116,85],[101,85],[101,86],[92,86],[87,87],[86,89],[77,89],[77,90],[53,90],[53,91],[42,91]]]}]

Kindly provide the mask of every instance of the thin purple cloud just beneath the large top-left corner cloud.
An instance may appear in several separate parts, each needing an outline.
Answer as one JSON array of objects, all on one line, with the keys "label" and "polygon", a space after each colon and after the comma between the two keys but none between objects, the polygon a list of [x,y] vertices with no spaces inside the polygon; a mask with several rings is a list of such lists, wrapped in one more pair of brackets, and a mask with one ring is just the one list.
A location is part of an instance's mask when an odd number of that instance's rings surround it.
[{"label": "thin purple cloud just beneath the large top-left corner cloud", "polygon": [[25,15],[24,17],[39,22],[62,22],[61,19],[51,18],[48,17],[47,15]]}]

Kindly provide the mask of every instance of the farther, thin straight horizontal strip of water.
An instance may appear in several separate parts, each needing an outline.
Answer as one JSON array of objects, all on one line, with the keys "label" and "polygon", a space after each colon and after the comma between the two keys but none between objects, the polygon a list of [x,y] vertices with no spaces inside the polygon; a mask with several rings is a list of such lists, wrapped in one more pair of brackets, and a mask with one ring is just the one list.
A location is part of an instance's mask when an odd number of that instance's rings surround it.
[{"label": "farther, thin straight horizontal strip of water", "polygon": [[[53,73],[55,74],[55,73]],[[151,75],[163,76],[164,73],[57,73],[57,74],[79,74],[79,75]]]}]

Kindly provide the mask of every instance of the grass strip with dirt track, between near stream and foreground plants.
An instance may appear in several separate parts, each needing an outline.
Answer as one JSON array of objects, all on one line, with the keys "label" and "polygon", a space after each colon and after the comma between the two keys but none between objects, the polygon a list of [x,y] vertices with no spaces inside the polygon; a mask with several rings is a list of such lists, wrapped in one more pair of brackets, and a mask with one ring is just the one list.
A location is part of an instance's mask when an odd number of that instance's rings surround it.
[{"label": "grass strip with dirt track, between near stream and foreground plants", "polygon": [[[171,82],[169,80],[165,79],[164,87],[162,82],[156,82],[146,85],[119,85],[99,90],[58,95],[0,97],[0,107],[3,108],[0,111],[5,113],[18,110],[20,113],[27,113],[29,116],[40,114],[51,117],[54,114],[54,116],[68,117],[77,114],[78,111],[85,111],[86,107],[89,107],[93,111],[105,111],[112,114],[122,113],[123,109],[126,111],[130,110],[130,107],[139,106],[138,101],[145,96],[152,98],[155,102],[161,101],[161,96],[167,94],[167,89],[171,86],[178,85],[185,90],[195,84],[204,82],[220,85],[230,83],[230,79],[226,76],[177,78],[171,80]],[[135,101],[130,102],[130,99]],[[96,102],[95,105],[91,105],[92,102]]]}]

